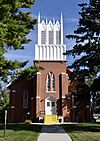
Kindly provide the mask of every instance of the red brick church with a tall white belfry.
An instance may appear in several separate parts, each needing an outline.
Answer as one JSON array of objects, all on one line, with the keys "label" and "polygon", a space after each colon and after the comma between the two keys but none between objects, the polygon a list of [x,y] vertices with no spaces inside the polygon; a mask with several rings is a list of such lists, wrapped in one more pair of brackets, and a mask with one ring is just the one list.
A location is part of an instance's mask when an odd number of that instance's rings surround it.
[{"label": "red brick church with a tall white belfry", "polygon": [[9,86],[9,122],[23,122],[27,114],[33,122],[44,120],[47,115],[56,115],[62,121],[75,119],[75,102],[69,92],[72,72],[66,67],[64,52],[62,15],[60,21],[48,21],[41,20],[39,14],[34,65],[43,70],[37,72],[32,80],[18,80]]}]

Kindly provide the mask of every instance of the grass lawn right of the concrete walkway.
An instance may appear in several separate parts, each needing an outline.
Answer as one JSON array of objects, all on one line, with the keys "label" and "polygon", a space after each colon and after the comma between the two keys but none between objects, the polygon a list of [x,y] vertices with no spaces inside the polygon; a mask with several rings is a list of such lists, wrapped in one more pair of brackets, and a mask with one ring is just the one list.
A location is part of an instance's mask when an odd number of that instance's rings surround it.
[{"label": "grass lawn right of the concrete walkway", "polygon": [[100,141],[100,124],[79,123],[62,125],[72,141]]}]

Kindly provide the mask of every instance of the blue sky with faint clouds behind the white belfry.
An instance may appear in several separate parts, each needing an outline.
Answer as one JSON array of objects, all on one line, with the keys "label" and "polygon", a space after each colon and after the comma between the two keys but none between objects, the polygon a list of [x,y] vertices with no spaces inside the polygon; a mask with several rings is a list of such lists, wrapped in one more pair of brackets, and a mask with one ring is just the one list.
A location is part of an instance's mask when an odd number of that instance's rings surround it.
[{"label": "blue sky with faint clouds behind the white belfry", "polygon": [[[78,26],[78,19],[80,7],[78,4],[82,2],[88,2],[88,0],[36,0],[35,4],[31,8],[32,16],[37,18],[40,12],[41,19],[60,19],[62,13],[64,20],[64,44],[66,44],[66,50],[71,49],[74,41],[66,39],[66,35],[73,34],[73,31]],[[37,25],[34,30],[28,35],[31,38],[31,42],[25,46],[24,50],[13,51],[10,50],[5,54],[5,57],[10,60],[26,61],[29,63],[26,67],[32,66],[34,61],[34,49],[37,43]],[[67,57],[68,65],[73,61],[72,58]]]}]

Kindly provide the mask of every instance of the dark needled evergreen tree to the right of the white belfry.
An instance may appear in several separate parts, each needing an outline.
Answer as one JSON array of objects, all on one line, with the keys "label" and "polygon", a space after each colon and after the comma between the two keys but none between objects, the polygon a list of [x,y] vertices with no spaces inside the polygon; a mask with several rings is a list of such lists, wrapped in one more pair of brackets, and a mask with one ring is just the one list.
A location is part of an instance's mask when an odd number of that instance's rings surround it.
[{"label": "dark needled evergreen tree to the right of the white belfry", "polygon": [[73,49],[66,55],[75,57],[72,79],[86,79],[100,75],[100,1],[89,0],[79,4],[81,7],[78,28],[68,39],[75,39]]}]

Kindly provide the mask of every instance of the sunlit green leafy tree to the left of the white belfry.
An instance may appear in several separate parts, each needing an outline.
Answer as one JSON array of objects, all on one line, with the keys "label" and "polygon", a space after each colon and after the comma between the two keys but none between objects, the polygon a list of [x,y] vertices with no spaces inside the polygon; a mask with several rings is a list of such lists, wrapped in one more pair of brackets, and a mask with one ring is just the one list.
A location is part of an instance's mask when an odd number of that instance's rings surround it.
[{"label": "sunlit green leafy tree to the left of the white belfry", "polygon": [[7,81],[7,76],[12,76],[23,68],[26,62],[10,61],[4,57],[9,49],[24,49],[30,39],[27,35],[36,19],[31,16],[31,6],[35,0],[0,0],[0,79]]}]

